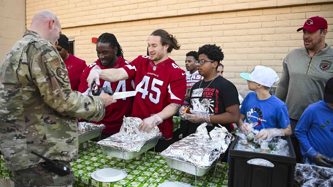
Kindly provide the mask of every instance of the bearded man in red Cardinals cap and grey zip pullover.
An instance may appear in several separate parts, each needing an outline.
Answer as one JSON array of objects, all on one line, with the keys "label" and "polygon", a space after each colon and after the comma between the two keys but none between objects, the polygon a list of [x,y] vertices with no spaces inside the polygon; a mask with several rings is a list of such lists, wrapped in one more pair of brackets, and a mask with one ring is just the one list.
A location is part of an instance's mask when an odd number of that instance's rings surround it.
[{"label": "bearded man in red Cardinals cap and grey zip pullover", "polygon": [[276,97],[286,100],[298,161],[301,154],[295,137],[296,124],[309,104],[323,100],[325,84],[333,77],[333,49],[325,43],[327,21],[318,16],[309,18],[297,29],[301,30],[304,47],[292,50],[283,60],[282,76],[275,92]]}]

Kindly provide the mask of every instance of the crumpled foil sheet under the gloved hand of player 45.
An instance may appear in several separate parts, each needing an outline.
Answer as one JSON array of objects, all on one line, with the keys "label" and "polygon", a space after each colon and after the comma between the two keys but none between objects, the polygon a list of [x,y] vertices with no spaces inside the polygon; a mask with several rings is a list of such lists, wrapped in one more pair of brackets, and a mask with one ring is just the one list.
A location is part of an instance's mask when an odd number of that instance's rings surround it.
[{"label": "crumpled foil sheet under the gloved hand of player 45", "polygon": [[147,141],[162,136],[162,133],[157,126],[155,126],[149,133],[139,131],[138,127],[141,122],[142,119],[137,117],[124,117],[120,131],[97,142],[97,145],[120,149],[127,152],[139,152]]}]

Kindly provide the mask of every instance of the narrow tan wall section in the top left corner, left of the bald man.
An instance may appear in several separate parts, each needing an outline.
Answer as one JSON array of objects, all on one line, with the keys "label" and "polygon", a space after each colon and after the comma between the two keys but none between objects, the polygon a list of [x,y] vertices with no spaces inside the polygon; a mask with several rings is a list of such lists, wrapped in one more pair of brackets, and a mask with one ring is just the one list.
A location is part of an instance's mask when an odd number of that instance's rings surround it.
[{"label": "narrow tan wall section in the top left corner, left of the bald man", "polygon": [[0,0],[0,66],[26,31],[25,0]]}]

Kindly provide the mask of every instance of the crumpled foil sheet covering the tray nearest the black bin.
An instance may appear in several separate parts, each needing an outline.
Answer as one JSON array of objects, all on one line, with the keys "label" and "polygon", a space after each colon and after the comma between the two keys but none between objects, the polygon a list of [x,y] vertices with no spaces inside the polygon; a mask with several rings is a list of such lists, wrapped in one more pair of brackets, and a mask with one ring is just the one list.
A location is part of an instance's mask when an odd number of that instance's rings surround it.
[{"label": "crumpled foil sheet covering the tray nearest the black bin", "polygon": [[194,134],[171,144],[161,155],[209,168],[227,150],[234,136],[222,126],[215,127],[208,134],[206,125],[202,123]]}]

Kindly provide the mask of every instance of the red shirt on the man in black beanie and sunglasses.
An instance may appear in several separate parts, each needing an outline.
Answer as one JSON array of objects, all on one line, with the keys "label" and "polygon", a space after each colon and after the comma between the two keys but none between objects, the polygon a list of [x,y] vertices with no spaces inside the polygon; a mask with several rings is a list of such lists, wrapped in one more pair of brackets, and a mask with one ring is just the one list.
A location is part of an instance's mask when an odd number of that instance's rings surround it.
[{"label": "red shirt on the man in black beanie and sunglasses", "polygon": [[71,54],[67,60],[64,61],[67,71],[69,82],[73,91],[79,91],[80,79],[83,70],[87,67],[86,62]]}]

